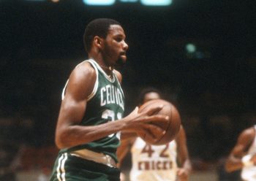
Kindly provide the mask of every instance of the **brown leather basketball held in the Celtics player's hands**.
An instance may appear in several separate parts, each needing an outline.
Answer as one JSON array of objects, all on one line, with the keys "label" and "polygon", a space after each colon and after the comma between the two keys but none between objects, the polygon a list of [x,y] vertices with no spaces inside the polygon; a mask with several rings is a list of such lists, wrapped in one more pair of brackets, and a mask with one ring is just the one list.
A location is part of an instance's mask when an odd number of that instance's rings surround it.
[{"label": "brown leather basketball held in the Celtics player's hands", "polygon": [[169,119],[166,122],[159,122],[154,124],[165,130],[165,134],[157,138],[157,141],[152,140],[150,136],[147,136],[146,134],[140,135],[140,137],[145,142],[151,145],[165,145],[168,142],[173,141],[173,139],[175,139],[176,135],[178,134],[181,126],[181,117],[178,113],[178,110],[169,101],[165,101],[162,99],[147,101],[139,108],[139,112],[147,111],[149,108],[159,105],[163,105],[163,107],[159,112],[156,112],[155,114],[167,115],[169,116]]}]

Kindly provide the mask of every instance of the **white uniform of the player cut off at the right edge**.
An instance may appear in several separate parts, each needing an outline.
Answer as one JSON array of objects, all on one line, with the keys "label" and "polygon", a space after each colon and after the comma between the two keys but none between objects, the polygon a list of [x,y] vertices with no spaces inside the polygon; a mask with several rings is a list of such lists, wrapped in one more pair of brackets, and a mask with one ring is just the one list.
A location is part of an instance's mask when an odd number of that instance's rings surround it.
[{"label": "white uniform of the player cut off at the right edge", "polygon": [[[255,126],[256,131],[256,126]],[[252,145],[249,147],[247,154],[255,154],[256,153],[256,136],[252,142]],[[241,177],[246,181],[256,181],[256,166],[244,166],[241,172]]]}]

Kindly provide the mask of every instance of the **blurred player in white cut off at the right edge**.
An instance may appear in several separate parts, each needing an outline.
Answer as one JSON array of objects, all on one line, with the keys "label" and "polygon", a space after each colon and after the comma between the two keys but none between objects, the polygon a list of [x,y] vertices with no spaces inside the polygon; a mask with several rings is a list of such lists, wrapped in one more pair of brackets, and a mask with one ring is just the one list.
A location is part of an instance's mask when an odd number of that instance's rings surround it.
[{"label": "blurred player in white cut off at the right edge", "polygon": [[255,138],[256,125],[242,131],[225,163],[227,172],[241,169],[241,178],[245,181],[256,181]]}]

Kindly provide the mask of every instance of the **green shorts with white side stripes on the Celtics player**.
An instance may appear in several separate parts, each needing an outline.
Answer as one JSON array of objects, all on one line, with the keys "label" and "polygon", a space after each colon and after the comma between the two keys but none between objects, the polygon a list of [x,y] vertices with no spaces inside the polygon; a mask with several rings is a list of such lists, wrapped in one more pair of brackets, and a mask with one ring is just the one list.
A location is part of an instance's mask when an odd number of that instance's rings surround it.
[{"label": "green shorts with white side stripes on the Celtics player", "polygon": [[120,181],[120,170],[102,163],[60,153],[50,181]]}]

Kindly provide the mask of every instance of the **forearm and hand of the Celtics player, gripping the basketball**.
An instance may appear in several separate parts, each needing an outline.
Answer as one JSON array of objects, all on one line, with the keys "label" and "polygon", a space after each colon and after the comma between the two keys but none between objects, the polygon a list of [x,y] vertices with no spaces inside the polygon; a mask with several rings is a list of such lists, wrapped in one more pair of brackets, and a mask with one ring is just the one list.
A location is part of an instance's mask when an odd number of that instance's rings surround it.
[{"label": "forearm and hand of the Celtics player, gripping the basketball", "polygon": [[[158,109],[162,109],[162,107],[156,107],[152,109],[152,111]],[[80,113],[79,115],[79,112],[76,112],[78,115],[70,114],[70,112],[67,114],[67,112],[64,111],[62,111],[62,114],[60,114],[61,116],[59,117],[59,123],[56,129],[57,147],[66,148],[85,144],[124,130],[134,131],[136,133],[146,133],[154,137],[154,134],[160,135],[164,134],[164,132],[162,128],[148,123],[168,119],[165,115],[148,115],[150,114],[150,110],[148,112],[138,114],[137,109],[135,109],[134,112],[130,113],[127,117],[122,118],[121,120],[109,121],[108,123],[97,126],[80,126],[80,121],[75,120],[80,120],[83,114]],[[73,115],[73,117],[70,118],[69,115]]]}]

